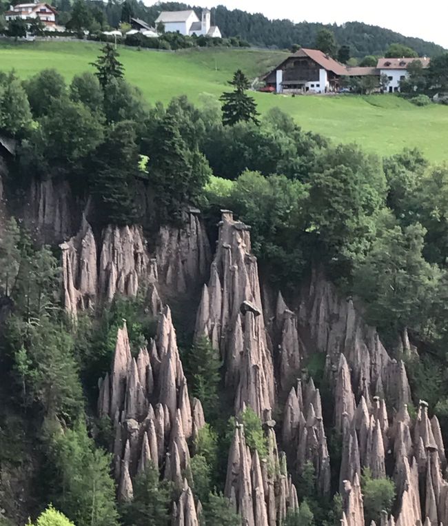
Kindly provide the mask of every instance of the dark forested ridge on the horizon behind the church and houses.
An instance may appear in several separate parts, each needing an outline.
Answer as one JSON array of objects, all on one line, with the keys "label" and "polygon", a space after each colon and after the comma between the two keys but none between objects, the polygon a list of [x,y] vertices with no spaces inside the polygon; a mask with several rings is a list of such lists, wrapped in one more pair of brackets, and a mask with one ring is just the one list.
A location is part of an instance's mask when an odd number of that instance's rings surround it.
[{"label": "dark forested ridge on the horizon behind the church and houses", "polygon": [[[130,17],[136,17],[154,25],[154,21],[162,10],[183,10],[193,8],[201,17],[202,8],[179,2],[157,2],[153,6],[145,6],[141,0],[125,0],[124,2],[110,0],[55,0],[53,2],[59,12],[57,22],[65,25],[77,12],[80,20],[87,23],[88,11],[92,13],[92,23],[89,29],[100,30],[106,27],[118,28],[121,22],[128,23]],[[1,13],[8,9],[9,3],[0,2]],[[212,23],[220,28],[224,39],[237,38],[243,43],[262,48],[291,49],[293,46],[313,48],[316,35],[323,28],[331,30],[338,47],[349,46],[350,56],[361,59],[369,55],[383,56],[389,45],[399,43],[415,50],[418,56],[434,57],[444,52],[440,45],[422,39],[405,37],[402,34],[378,26],[347,21],[342,26],[333,24],[324,26],[321,23],[306,21],[293,23],[288,20],[269,20],[263,14],[250,14],[243,10],[229,10],[224,6],[212,8]],[[219,39],[218,39],[219,40]],[[214,43],[216,44],[216,42]],[[210,45],[210,44],[209,44]],[[233,45],[233,44],[232,44]],[[175,49],[175,48],[174,48]]]}]

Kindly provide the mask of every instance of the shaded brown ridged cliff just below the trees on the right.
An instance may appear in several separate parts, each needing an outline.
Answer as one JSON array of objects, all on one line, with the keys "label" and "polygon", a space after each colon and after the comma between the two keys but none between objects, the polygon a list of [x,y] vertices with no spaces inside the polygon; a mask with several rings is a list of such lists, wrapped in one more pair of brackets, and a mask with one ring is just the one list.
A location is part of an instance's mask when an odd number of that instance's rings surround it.
[{"label": "shaded brown ridged cliff just below the trees on the right", "polygon": [[340,354],[344,354],[356,396],[386,396],[397,409],[411,400],[403,362],[390,358],[353,300],[341,298],[336,287],[316,270],[301,292],[298,332],[308,342],[304,354],[323,352],[327,356],[327,376],[332,385],[336,385]]}]

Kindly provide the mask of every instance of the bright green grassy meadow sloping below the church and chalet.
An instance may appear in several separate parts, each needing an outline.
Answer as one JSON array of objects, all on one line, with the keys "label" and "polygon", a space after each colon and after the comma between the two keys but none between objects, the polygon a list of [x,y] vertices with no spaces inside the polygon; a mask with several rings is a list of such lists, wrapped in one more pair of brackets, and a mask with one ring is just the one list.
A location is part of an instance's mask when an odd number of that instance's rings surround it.
[{"label": "bright green grassy meadow sloping below the church and chalet", "polygon": [[[91,69],[99,45],[77,42],[0,43],[0,70],[15,68],[26,78],[43,68],[56,68],[70,81]],[[205,49],[176,53],[121,48],[126,76],[151,103],[187,94],[218,96],[237,68],[254,78],[280,62],[278,51]],[[448,107],[417,108],[393,95],[286,97],[254,94],[263,113],[274,106],[303,126],[334,141],[357,142],[379,154],[417,146],[434,161],[448,160]]]}]

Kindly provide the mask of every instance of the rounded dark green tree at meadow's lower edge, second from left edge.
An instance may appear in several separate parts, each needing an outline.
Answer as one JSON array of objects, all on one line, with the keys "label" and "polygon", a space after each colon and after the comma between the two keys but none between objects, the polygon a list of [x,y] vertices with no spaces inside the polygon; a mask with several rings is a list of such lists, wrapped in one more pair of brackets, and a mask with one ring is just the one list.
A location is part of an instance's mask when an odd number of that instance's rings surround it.
[{"label": "rounded dark green tree at meadow's lower edge, second from left edge", "polygon": [[47,69],[23,82],[34,118],[43,117],[54,111],[54,101],[65,95],[65,81],[56,70]]}]

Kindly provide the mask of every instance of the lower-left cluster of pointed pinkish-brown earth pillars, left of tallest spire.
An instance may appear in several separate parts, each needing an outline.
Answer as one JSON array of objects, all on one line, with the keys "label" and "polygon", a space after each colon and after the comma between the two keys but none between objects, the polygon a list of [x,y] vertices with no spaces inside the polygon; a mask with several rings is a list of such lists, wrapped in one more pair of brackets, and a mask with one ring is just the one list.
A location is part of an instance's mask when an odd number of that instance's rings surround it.
[{"label": "lower-left cluster of pointed pinkish-brown earth pillars, left of tallest spire", "polygon": [[[194,399],[190,406],[168,307],[159,315],[150,352],[143,347],[137,358],[132,356],[126,325],[119,329],[112,370],[100,385],[98,412],[114,424],[112,452],[119,498],[132,498],[132,481],[150,462],[155,467],[164,464],[165,478],[183,487],[182,474],[190,463],[187,441],[205,421],[200,401]],[[184,490],[177,513],[193,521],[185,524],[194,525],[191,490]]]}]

